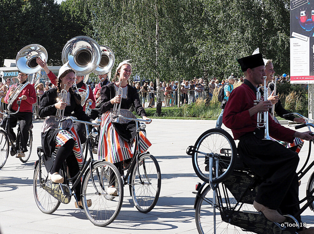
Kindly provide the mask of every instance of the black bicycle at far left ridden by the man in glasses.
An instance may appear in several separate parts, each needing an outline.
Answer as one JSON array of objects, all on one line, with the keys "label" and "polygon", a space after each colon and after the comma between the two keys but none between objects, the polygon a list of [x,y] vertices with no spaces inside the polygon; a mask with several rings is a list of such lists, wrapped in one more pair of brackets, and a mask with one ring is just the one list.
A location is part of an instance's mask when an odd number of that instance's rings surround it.
[{"label": "black bicycle at far left ridden by the man in glasses", "polygon": [[[1,100],[0,100],[1,101]],[[18,98],[18,110],[14,113],[11,113],[9,110],[3,110],[3,112],[0,110],[0,113],[3,114],[3,122],[5,122],[5,126],[3,127],[4,130],[0,130],[0,168],[2,168],[5,164],[5,162],[8,159],[9,152],[11,156],[14,156],[19,151],[20,146],[20,138],[21,138],[21,130],[20,126],[18,126],[16,139],[12,139],[12,136],[8,134],[8,127],[10,124],[10,115],[16,114],[19,112],[20,104],[21,104],[21,98]],[[30,158],[30,154],[32,151],[32,142],[33,142],[33,132],[32,132],[33,125],[30,126],[29,129],[29,136],[28,141],[26,144],[27,152],[25,152],[25,157],[20,157],[19,160],[21,162],[27,162],[27,160]],[[11,149],[9,150],[9,146],[11,146]]]}]

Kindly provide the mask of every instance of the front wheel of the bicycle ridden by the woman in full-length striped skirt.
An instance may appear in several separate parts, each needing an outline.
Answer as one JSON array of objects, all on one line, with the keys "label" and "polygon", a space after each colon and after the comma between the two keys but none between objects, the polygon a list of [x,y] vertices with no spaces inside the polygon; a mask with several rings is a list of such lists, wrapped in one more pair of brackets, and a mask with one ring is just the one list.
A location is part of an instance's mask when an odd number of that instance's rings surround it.
[{"label": "front wheel of the bicycle ridden by the woman in full-length striped skirt", "polygon": [[160,187],[161,174],[156,158],[142,155],[131,175],[131,194],[136,209],[142,213],[151,211],[158,201]]}]

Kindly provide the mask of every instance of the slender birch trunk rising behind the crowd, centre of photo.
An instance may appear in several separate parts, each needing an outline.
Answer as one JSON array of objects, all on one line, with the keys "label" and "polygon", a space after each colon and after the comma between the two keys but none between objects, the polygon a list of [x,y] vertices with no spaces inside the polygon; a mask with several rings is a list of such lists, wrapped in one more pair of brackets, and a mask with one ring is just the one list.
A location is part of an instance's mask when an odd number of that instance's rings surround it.
[{"label": "slender birch trunk rising behind the crowd, centre of photo", "polygon": [[159,56],[159,19],[158,19],[158,8],[157,8],[157,0],[155,2],[155,17],[156,17],[156,88],[157,88],[157,106],[156,106],[156,113],[157,116],[161,114],[161,97],[160,97],[160,82],[159,82],[159,72],[158,72],[158,56]]}]

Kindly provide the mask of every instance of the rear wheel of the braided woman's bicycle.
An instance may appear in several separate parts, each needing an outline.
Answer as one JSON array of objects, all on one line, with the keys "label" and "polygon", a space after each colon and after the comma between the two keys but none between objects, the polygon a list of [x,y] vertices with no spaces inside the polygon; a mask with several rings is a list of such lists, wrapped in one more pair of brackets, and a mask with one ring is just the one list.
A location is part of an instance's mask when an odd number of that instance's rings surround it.
[{"label": "rear wheel of the braided woman's bicycle", "polygon": [[[41,181],[39,179],[39,173],[41,168]],[[42,183],[45,182],[47,177],[47,170],[43,162],[41,165],[37,163],[35,172],[34,172],[34,180],[33,180],[33,191],[36,205],[39,210],[45,214],[52,214],[55,212],[59,205],[60,201],[51,196],[45,189],[42,188]]]}]

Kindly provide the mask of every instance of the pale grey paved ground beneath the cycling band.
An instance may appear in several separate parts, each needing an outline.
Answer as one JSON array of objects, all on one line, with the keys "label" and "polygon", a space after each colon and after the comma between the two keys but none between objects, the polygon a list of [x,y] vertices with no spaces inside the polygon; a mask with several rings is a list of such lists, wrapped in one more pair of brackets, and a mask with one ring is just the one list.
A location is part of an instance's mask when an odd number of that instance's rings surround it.
[{"label": "pale grey paved ground beneath the cycling band", "polygon": [[[107,227],[94,226],[84,210],[74,208],[74,199],[68,205],[61,204],[52,215],[41,213],[36,206],[32,184],[36,148],[41,144],[41,125],[42,121],[34,121],[30,160],[22,163],[9,156],[6,165],[0,169],[1,233],[197,233],[193,209],[195,195],[192,192],[195,184],[201,181],[193,170],[191,157],[186,155],[186,148],[194,145],[205,130],[214,128],[215,121],[153,120],[147,125],[147,136],[152,142],[149,152],[156,156],[162,174],[160,198],[151,212],[143,214],[134,207],[125,187],[122,209]],[[306,142],[299,154],[300,164],[306,159],[307,148]],[[306,194],[312,171],[302,178],[300,198]],[[314,226],[314,213],[309,208],[301,217],[308,226]]]}]

